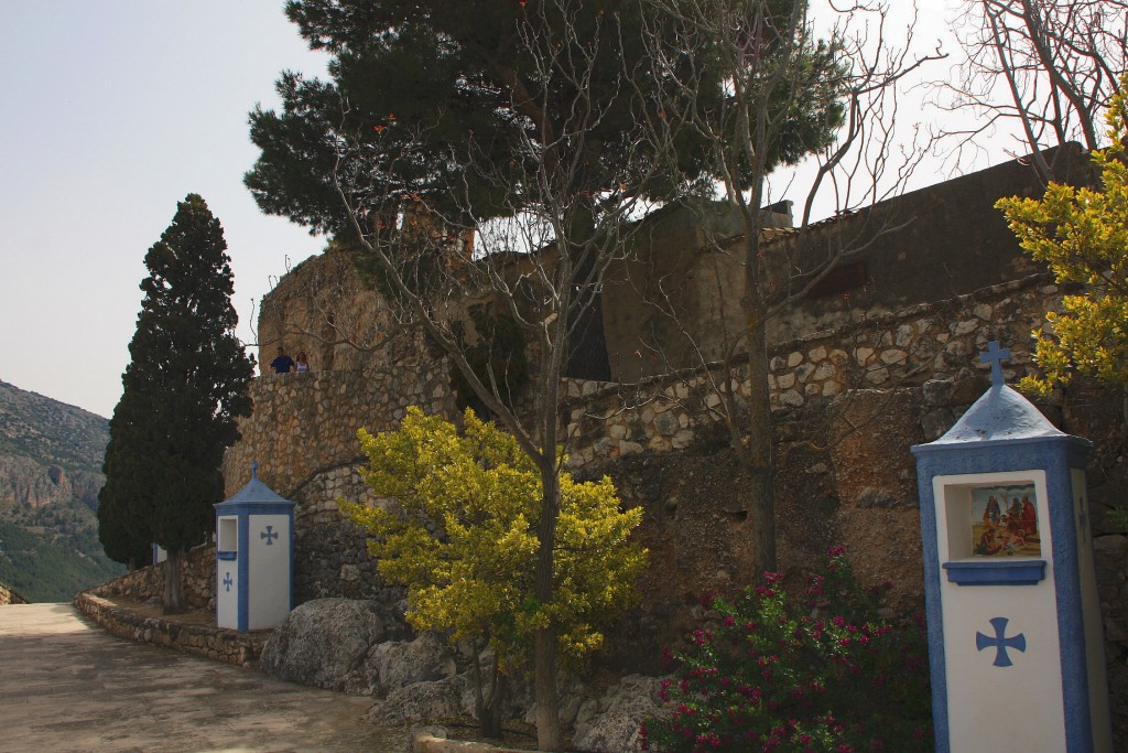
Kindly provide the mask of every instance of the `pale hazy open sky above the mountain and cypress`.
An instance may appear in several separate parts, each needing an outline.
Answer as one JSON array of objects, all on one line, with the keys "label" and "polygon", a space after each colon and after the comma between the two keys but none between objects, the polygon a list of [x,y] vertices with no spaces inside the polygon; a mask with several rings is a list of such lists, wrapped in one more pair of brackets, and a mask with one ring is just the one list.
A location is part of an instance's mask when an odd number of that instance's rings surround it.
[{"label": "pale hazy open sky above the mountain and cypress", "polygon": [[[922,5],[918,29],[942,28]],[[254,341],[255,304],[324,246],[243,185],[249,111],[277,105],[282,70],[325,73],[283,6],[0,0],[0,380],[108,418],[144,254],[188,193],[223,226]]]}]

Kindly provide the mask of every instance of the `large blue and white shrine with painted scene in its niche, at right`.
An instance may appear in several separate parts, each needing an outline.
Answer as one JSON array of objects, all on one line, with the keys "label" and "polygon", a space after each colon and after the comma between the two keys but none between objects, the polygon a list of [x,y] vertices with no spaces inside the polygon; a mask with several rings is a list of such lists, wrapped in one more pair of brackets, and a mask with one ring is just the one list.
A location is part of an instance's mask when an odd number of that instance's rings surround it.
[{"label": "large blue and white shrine with painted scene in its niche, at right", "polygon": [[1111,753],[1085,465],[1091,443],[1003,383],[936,441],[920,488],[936,751]]}]

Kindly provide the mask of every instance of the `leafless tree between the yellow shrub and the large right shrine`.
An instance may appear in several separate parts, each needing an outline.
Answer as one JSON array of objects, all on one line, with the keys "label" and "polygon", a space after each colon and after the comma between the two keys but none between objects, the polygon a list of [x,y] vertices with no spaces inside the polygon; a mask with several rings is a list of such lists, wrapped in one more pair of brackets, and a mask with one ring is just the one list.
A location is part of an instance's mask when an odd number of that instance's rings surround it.
[{"label": "leafless tree between the yellow shrub and the large right shrine", "polygon": [[[876,237],[904,227],[911,218],[884,217],[879,222],[840,222],[858,207],[892,195],[925,155],[926,145],[910,138],[897,150],[897,86],[928,61],[935,51],[913,55],[911,24],[891,42],[887,7],[857,3],[845,9],[830,6],[823,38],[814,32],[807,2],[744,0],[651,0],[655,17],[653,55],[662,75],[677,81],[681,96],[666,103],[664,116],[653,125],[654,138],[669,143],[668,134],[690,129],[710,145],[715,175],[723,192],[723,210],[737,218],[735,231],[703,220],[706,248],[714,265],[717,299],[730,308],[715,323],[710,339],[688,323],[677,325],[699,361],[716,360],[722,368],[707,371],[722,395],[716,411],[729,444],[751,479],[747,513],[758,570],[776,564],[772,405],[768,386],[767,331],[778,312],[817,286],[835,265],[864,251]],[[678,33],[663,34],[663,24]],[[669,46],[669,40],[679,41]],[[702,87],[699,70],[681,61],[693,51],[708,49],[722,61],[726,96],[717,103],[695,96]],[[803,121],[807,121],[804,123]],[[810,156],[813,178],[802,203],[801,226],[811,221],[820,192],[831,194],[840,222],[835,240],[820,249],[790,255],[795,246],[769,243],[781,207],[775,193],[781,166]],[[715,212],[715,205],[707,207]],[[788,210],[790,211],[790,210]],[[733,280],[739,271],[742,279]],[[739,295],[739,300],[738,300]],[[677,306],[661,290],[653,305],[677,321]],[[737,306],[733,306],[737,304]],[[739,313],[733,309],[739,306]],[[661,344],[655,348],[661,349]],[[747,364],[748,378],[734,378]],[[679,364],[686,366],[686,364]]]}]

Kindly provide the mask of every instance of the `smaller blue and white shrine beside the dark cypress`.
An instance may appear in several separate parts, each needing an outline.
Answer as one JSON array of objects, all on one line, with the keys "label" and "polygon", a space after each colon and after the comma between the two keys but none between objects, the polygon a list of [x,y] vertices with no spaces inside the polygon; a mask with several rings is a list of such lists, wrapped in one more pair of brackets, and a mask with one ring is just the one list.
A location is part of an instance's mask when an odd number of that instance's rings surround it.
[{"label": "smaller blue and white shrine beside the dark cypress", "polygon": [[258,480],[215,505],[215,624],[276,628],[293,608],[293,502]]}]

